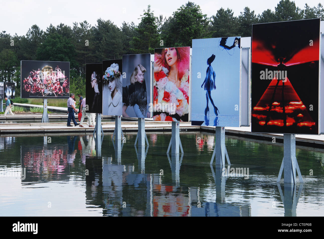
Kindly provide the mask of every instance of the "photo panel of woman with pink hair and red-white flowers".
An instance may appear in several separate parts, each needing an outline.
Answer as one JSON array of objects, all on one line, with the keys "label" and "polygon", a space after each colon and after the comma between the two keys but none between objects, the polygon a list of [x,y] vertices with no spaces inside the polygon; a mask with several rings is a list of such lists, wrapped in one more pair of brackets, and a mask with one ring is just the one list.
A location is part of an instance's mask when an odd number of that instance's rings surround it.
[{"label": "photo panel of woman with pink hair and red-white flowers", "polygon": [[154,51],[153,119],[189,121],[190,47]]}]

